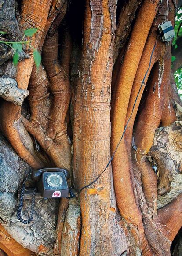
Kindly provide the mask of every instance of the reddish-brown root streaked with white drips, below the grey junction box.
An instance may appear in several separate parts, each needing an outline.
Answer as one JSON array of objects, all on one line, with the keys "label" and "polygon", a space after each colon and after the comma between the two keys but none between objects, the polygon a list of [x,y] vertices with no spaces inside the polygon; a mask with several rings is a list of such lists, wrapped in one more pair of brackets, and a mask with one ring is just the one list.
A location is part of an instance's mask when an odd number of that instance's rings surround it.
[{"label": "reddish-brown root streaked with white drips, below the grey junction box", "polygon": [[155,130],[159,127],[162,119],[162,110],[165,102],[165,90],[168,89],[169,74],[171,72],[171,57],[161,60],[154,70],[151,79],[151,87],[138,116],[135,127],[136,159],[138,163],[145,158],[153,145]]}]

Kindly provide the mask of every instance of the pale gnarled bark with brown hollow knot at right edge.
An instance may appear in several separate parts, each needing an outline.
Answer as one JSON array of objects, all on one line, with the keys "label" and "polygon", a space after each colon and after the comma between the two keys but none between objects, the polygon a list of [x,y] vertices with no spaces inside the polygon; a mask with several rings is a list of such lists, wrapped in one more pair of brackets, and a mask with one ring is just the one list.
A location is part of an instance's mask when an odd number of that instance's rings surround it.
[{"label": "pale gnarled bark with brown hollow knot at right edge", "polygon": [[148,156],[152,157],[151,164],[157,173],[157,208],[163,207],[182,193],[181,141],[180,121],[171,126],[160,127],[155,132]]}]

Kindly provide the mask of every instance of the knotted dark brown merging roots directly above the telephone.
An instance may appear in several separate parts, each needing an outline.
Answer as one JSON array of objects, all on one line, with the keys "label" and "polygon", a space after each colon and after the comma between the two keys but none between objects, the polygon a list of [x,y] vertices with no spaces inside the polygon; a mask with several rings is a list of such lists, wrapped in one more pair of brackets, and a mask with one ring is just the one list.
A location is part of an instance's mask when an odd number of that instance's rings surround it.
[{"label": "knotted dark brown merging roots directly above the telephone", "polygon": [[[67,48],[67,57],[70,54]],[[29,85],[31,122],[22,118],[31,133],[56,166],[70,170],[71,152],[67,136],[66,113],[69,107],[69,68],[64,70],[58,64],[58,37],[48,37],[43,49],[42,66],[33,71]],[[69,67],[69,59],[68,59]],[[41,85],[41,86],[40,86]]]}]

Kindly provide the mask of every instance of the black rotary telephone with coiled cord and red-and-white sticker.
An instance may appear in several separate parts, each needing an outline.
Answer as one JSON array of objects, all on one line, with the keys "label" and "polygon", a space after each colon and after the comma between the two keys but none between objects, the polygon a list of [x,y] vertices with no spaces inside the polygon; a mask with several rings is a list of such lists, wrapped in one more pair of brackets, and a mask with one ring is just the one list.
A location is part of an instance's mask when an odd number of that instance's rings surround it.
[{"label": "black rotary telephone with coiled cord and red-and-white sticker", "polygon": [[22,184],[20,202],[17,211],[17,218],[23,224],[29,224],[31,221],[33,221],[36,192],[40,193],[41,197],[43,198],[68,197],[69,195],[69,187],[67,182],[67,179],[69,178],[69,171],[60,168],[44,168],[33,170],[31,173],[31,178],[36,182],[37,188],[33,189],[32,193],[30,217],[29,219],[25,220],[21,216],[21,211],[23,208],[25,182],[27,177]]}]

